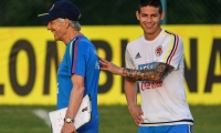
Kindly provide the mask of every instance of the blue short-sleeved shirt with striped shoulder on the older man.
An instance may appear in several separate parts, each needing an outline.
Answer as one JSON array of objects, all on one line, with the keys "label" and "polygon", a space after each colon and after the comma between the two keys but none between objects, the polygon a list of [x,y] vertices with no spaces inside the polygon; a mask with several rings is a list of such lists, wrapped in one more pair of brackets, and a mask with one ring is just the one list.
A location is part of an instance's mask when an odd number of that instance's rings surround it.
[{"label": "blue short-sleeved shirt with striped shoulder on the older man", "polygon": [[[78,74],[84,78],[84,95],[92,100],[92,121],[80,127],[82,131],[98,124],[97,89],[99,79],[99,61],[94,44],[84,35],[75,37],[66,45],[63,60],[57,71],[57,109],[69,105],[73,83],[71,76]],[[98,125],[97,125],[98,126]]]}]

